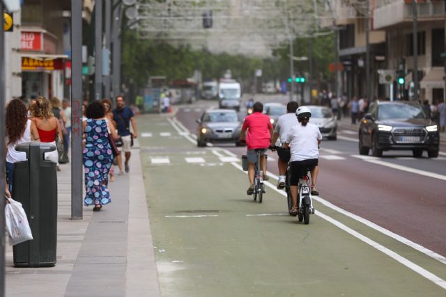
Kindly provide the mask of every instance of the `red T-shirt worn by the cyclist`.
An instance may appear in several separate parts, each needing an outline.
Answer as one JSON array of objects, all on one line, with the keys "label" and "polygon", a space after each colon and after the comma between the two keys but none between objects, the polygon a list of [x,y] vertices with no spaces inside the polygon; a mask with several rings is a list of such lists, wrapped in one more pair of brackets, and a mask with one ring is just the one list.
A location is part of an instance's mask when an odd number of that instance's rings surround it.
[{"label": "red T-shirt worn by the cyclist", "polygon": [[272,125],[268,115],[263,113],[248,115],[242,127],[242,130],[246,129],[248,129],[246,136],[248,150],[268,148],[270,146],[270,129],[272,129]]}]

